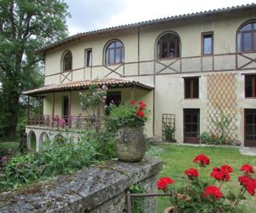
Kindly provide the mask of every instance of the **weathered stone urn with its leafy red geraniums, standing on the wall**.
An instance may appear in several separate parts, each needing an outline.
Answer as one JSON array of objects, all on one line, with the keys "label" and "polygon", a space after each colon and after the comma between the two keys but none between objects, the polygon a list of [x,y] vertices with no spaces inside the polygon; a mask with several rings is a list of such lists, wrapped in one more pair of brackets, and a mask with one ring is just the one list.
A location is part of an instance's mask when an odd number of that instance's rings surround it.
[{"label": "weathered stone urn with its leafy red geraniums, standing on the wall", "polygon": [[146,151],[146,140],[143,126],[148,120],[147,105],[139,101],[112,105],[108,118],[108,130],[117,132],[115,149],[121,161],[141,161]]}]

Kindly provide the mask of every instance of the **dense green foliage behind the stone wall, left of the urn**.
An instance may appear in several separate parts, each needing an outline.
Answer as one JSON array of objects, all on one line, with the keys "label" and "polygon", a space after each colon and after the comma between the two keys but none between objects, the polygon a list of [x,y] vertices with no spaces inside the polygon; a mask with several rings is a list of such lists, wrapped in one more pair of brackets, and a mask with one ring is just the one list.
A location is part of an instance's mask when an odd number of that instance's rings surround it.
[{"label": "dense green foliage behind the stone wall, left of the urn", "polygon": [[0,177],[0,191],[50,176],[72,173],[114,157],[113,139],[107,132],[84,130],[77,143],[71,137],[63,137],[61,142],[44,141],[41,153],[19,155],[9,161]]}]

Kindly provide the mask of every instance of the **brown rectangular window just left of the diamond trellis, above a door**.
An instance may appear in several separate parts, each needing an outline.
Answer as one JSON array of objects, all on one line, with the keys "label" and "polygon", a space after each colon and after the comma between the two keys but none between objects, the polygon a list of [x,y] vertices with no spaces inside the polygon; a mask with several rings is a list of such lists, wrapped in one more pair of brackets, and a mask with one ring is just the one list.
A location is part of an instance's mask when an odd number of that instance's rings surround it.
[{"label": "brown rectangular window just left of the diamond trellis, above a door", "polygon": [[185,98],[199,98],[199,78],[184,78]]}]

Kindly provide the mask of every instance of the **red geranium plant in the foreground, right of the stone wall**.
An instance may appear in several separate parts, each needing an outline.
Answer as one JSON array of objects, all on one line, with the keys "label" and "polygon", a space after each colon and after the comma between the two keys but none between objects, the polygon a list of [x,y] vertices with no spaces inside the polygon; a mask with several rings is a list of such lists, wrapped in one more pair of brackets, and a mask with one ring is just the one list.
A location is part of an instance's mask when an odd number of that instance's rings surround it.
[{"label": "red geranium plant in the foreground, right of the stone wall", "polygon": [[[210,164],[210,159],[200,154],[193,162],[203,170]],[[157,188],[169,195],[172,203],[172,208],[166,209],[165,212],[173,212],[173,210],[174,212],[242,212],[237,208],[238,204],[241,199],[245,199],[245,193],[252,196],[256,193],[256,178],[253,178],[252,165],[243,164],[240,170],[243,174],[238,178],[241,189],[237,195],[229,192],[224,196],[222,193],[224,182],[230,181],[230,174],[234,172],[230,165],[226,164],[212,168],[211,183],[204,181],[199,170],[195,168],[185,170],[184,187],[179,187],[176,191],[171,187],[175,181],[170,177],[160,178],[157,181]]]}]

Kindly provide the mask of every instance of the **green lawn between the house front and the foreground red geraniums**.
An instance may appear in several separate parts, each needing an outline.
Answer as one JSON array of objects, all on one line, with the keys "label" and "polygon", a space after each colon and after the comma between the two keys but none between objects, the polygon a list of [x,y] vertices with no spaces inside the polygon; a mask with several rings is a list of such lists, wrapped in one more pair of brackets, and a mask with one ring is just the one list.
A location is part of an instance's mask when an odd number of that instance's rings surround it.
[{"label": "green lawn between the house front and the foreground red geraniums", "polygon": [[[225,183],[222,187],[222,191],[229,189],[232,192],[238,192],[240,186],[237,181],[237,177],[241,176],[239,169],[241,164],[252,164],[256,166],[256,157],[244,156],[239,153],[237,148],[230,147],[188,147],[178,146],[172,144],[161,144],[150,146],[148,149],[148,155],[161,158],[164,161],[164,168],[160,172],[160,177],[169,176],[176,183],[173,187],[177,187],[178,182],[182,182],[183,171],[194,167],[198,169],[197,164],[193,163],[193,159],[196,155],[204,153],[210,158],[210,166],[200,171],[200,175],[207,177],[209,182],[212,181],[210,173],[212,167],[221,166],[222,164],[230,164],[235,170],[230,175],[230,181]],[[256,177],[256,176],[255,176]],[[243,201],[240,205],[245,210],[244,212],[253,213],[256,211],[256,195],[254,197],[246,195],[247,200]],[[162,213],[165,208],[170,205],[167,198],[158,199],[158,212]]]}]

